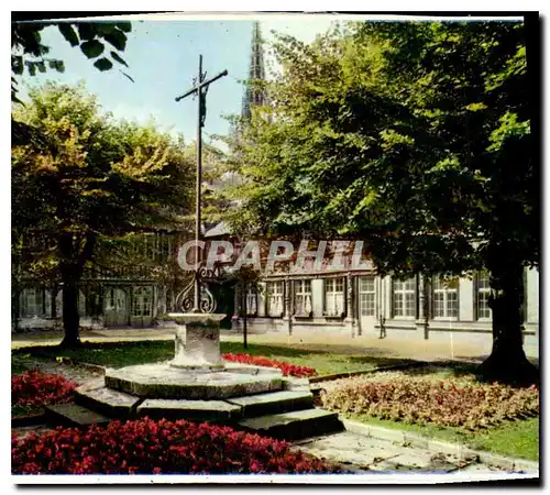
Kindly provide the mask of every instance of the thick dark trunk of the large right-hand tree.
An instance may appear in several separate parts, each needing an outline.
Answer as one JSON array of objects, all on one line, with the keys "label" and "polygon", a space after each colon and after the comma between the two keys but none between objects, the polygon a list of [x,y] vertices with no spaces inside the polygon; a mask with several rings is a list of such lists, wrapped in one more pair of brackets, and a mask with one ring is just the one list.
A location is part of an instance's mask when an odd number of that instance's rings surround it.
[{"label": "thick dark trunk of the large right-hand tree", "polygon": [[491,273],[493,350],[480,371],[491,381],[538,383],[539,372],[527,360],[522,342],[524,267],[520,263],[504,264],[502,260]]}]

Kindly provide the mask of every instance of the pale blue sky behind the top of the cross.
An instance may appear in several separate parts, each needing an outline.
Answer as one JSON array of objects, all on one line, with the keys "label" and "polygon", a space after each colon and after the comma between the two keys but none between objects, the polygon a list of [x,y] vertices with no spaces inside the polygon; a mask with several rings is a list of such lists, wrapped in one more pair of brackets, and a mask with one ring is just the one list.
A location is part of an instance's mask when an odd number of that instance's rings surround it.
[{"label": "pale blue sky behind the top of the cross", "polygon": [[[310,42],[324,32],[330,16],[308,16],[296,20],[270,18],[261,22],[268,41],[272,30],[292,34]],[[229,76],[216,81],[208,92],[208,112],[205,140],[211,134],[229,130],[223,114],[240,113],[242,86],[246,78],[253,20],[179,20],[142,21],[132,23],[123,58],[130,68],[130,81],[116,66],[105,73],[97,70],[79,48],[73,48],[56,28],[43,31],[43,41],[52,48],[52,56],[65,62],[65,73],[48,70],[34,77],[24,77],[25,85],[41,85],[45,80],[76,84],[84,79],[91,94],[98,96],[106,111],[118,118],[145,123],[154,118],[163,130],[182,132],[186,142],[196,136],[197,107],[190,97],[176,102],[174,98],[191,87],[202,54],[204,70],[211,77],[223,69]],[[122,66],[121,66],[122,67]],[[122,67],[123,68],[123,67]],[[24,98],[26,91],[22,91]]]}]

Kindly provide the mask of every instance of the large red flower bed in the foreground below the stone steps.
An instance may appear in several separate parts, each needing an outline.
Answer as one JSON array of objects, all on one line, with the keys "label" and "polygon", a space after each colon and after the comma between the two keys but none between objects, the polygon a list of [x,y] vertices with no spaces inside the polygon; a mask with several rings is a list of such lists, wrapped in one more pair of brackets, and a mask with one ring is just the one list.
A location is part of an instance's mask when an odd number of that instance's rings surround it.
[{"label": "large red flower bed in the foreground below the stone steps", "polygon": [[16,474],[334,472],[284,441],[185,420],[111,421],[12,437]]}]

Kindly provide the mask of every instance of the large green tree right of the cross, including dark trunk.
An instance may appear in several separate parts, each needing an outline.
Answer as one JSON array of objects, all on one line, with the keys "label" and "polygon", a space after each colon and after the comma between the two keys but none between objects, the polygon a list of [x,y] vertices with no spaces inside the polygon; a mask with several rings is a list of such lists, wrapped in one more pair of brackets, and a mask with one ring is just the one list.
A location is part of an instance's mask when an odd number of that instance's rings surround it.
[{"label": "large green tree right of the cross, including dark trunk", "polygon": [[[534,380],[525,266],[539,262],[524,24],[361,23],[279,36],[273,108],[235,143],[232,223],[364,239],[382,274],[490,273],[487,377]],[[267,118],[270,117],[270,118]]]}]

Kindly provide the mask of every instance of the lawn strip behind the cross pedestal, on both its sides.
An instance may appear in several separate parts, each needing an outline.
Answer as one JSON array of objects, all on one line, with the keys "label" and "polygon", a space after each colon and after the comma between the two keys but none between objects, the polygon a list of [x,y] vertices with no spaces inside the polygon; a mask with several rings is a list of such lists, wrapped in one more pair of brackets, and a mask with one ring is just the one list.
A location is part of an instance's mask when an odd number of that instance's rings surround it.
[{"label": "lawn strip behind the cross pedestal, on both its sides", "polygon": [[[33,354],[32,350],[26,350],[25,352]],[[264,344],[249,344],[248,349],[244,349],[240,342],[221,342],[221,352],[234,354],[248,353],[256,356],[263,355],[272,360],[286,361],[301,366],[310,366],[317,370],[319,375],[372,370],[382,365],[410,362],[410,360],[396,358],[336,354],[331,352]],[[123,367],[132,364],[168,361],[174,358],[174,342],[124,342],[117,346],[94,348],[89,345],[78,350],[43,348],[40,353],[52,359],[64,356],[90,364]]]}]

